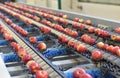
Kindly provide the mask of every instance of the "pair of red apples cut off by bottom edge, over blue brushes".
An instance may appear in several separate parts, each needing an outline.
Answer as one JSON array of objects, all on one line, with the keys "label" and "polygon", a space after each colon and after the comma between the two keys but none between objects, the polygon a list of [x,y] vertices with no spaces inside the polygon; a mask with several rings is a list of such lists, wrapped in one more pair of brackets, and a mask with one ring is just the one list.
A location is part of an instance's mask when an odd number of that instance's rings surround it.
[{"label": "pair of red apples cut off by bottom edge, over blue brushes", "polygon": [[73,71],[74,78],[93,78],[83,68],[78,68]]}]

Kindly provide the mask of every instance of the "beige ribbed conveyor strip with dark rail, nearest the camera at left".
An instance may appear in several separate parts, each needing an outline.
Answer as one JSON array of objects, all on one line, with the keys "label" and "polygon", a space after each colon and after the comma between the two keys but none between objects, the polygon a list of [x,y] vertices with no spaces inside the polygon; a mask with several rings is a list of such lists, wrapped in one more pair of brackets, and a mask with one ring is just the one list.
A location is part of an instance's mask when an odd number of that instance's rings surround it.
[{"label": "beige ribbed conveyor strip with dark rail, nearest the camera at left", "polygon": [[[62,72],[57,71],[55,67],[53,67],[49,62],[47,62],[47,59],[43,59],[44,57],[42,55],[38,56],[38,53],[35,53],[35,51],[28,46],[22,39],[20,39],[12,30],[10,30],[2,21],[0,21],[0,24],[6,28],[8,32],[10,32],[11,35],[13,35],[14,39],[22,46],[24,47],[29,54],[33,57],[33,59],[39,63],[44,70],[46,70],[49,73],[50,78],[65,78],[65,76],[62,74]],[[41,57],[40,57],[41,56]]]}]

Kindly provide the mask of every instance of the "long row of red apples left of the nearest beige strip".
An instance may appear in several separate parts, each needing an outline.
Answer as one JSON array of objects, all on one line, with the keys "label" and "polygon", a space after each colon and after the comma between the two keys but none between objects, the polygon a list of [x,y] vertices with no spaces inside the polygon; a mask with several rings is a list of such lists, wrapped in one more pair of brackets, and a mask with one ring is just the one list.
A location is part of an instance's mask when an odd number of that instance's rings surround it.
[{"label": "long row of red apples left of the nearest beige strip", "polygon": [[[0,32],[3,34],[6,40],[13,40],[12,35],[3,26],[0,26]],[[36,74],[36,78],[48,78],[47,71],[43,70],[42,67],[32,59],[32,57],[21,45],[16,42],[11,42],[10,45],[21,58],[21,61],[26,64],[31,73]]]}]

